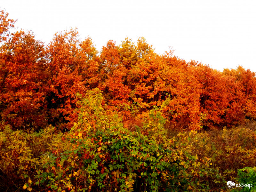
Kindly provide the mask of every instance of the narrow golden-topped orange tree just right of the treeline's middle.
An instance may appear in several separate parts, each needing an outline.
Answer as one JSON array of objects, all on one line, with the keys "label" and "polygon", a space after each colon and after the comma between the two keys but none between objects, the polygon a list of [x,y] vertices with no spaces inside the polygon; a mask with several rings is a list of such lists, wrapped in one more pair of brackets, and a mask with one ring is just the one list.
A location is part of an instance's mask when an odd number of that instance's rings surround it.
[{"label": "narrow golden-topped orange tree just right of the treeline's middle", "polygon": [[160,65],[157,63],[156,53],[145,38],[140,37],[135,48],[136,54],[133,53],[133,57],[136,56],[136,62],[127,76],[127,84],[132,90],[130,96],[141,108],[152,107],[156,104],[152,92]]}]

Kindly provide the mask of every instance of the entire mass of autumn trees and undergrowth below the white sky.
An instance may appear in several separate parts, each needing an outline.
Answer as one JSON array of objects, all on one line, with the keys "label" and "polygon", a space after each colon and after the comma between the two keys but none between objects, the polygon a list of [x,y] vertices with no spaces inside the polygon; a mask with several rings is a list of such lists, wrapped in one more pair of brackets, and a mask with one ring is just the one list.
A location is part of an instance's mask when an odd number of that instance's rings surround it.
[{"label": "entire mass of autumn trees and undergrowth below the white sky", "polygon": [[256,191],[255,72],[14,24],[0,10],[0,191]]}]

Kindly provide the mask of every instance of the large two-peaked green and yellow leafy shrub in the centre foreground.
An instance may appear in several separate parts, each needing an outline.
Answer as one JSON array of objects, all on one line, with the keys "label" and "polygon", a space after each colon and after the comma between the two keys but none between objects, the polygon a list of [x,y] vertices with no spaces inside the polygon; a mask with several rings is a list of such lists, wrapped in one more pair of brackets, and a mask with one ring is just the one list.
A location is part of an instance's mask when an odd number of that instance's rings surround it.
[{"label": "large two-peaked green and yellow leafy shrub in the centre foreground", "polygon": [[[78,122],[67,144],[41,156],[43,166],[31,186],[54,191],[209,191],[206,178],[221,180],[210,159],[198,160],[186,152],[186,143],[177,147],[165,137],[160,109],[149,111],[148,124],[131,132],[101,105],[98,89],[80,100]],[[163,139],[166,143],[159,142]]]}]

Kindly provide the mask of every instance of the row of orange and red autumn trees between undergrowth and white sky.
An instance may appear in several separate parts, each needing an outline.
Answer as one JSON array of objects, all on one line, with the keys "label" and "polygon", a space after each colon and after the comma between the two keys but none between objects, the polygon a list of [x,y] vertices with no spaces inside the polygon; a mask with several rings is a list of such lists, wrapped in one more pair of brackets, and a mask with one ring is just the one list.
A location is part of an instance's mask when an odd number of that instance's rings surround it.
[{"label": "row of orange and red autumn trees between undergrowth and white sky", "polygon": [[109,40],[98,52],[76,29],[57,32],[44,45],[32,32],[11,33],[15,21],[4,11],[0,17],[2,128],[70,130],[78,118],[76,93],[94,88],[123,119],[140,118],[167,99],[163,115],[180,129],[219,129],[256,118],[256,77],[249,69],[220,72],[172,50],[158,55],[143,37],[120,45]]}]

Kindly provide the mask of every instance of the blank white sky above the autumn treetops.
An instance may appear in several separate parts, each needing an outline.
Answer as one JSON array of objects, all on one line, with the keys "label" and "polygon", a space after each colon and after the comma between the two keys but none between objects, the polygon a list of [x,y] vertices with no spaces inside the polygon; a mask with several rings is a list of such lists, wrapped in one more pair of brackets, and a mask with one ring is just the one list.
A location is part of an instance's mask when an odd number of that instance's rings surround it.
[{"label": "blank white sky above the autumn treetops", "polygon": [[109,39],[143,36],[159,54],[172,46],[187,61],[256,72],[255,0],[0,0],[0,9],[46,44],[55,32],[77,27],[98,51]]}]

